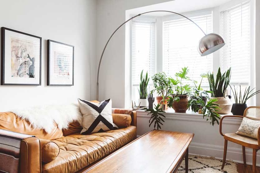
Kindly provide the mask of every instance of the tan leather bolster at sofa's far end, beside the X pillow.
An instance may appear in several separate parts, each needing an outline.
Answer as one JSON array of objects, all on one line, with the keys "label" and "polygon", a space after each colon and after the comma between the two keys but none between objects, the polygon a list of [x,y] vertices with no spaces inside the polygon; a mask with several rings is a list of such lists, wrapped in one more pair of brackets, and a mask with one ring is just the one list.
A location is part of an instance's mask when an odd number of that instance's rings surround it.
[{"label": "tan leather bolster at sofa's far end, beside the X pillow", "polygon": [[118,127],[129,127],[132,121],[131,115],[127,114],[112,114],[112,117]]}]

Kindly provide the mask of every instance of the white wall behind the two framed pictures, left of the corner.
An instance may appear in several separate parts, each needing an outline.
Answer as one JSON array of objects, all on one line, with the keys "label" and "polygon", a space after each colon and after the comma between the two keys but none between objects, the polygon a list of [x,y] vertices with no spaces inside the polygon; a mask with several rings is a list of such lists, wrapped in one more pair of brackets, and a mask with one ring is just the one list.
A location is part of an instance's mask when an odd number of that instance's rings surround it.
[{"label": "white wall behind the two framed pictures, left of the corner", "polygon": [[[0,1],[0,27],[42,37],[42,85],[0,86],[0,111],[95,98],[96,1]],[[74,86],[47,85],[47,39],[75,46]]]}]

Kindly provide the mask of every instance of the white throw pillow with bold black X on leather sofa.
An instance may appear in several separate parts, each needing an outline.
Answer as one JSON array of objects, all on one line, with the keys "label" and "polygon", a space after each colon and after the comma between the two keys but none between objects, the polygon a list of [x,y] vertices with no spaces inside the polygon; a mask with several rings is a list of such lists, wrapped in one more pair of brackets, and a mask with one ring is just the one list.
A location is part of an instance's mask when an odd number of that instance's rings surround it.
[{"label": "white throw pillow with bold black X on leather sofa", "polygon": [[81,99],[78,99],[78,102],[82,114],[82,135],[118,128],[113,124],[111,99],[104,100],[100,104]]}]

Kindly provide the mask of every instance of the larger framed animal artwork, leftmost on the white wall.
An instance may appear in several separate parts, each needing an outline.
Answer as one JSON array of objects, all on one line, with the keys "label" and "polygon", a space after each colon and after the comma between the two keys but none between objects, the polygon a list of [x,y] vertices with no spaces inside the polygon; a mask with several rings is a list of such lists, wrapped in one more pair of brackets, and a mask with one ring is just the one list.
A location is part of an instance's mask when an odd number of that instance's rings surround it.
[{"label": "larger framed animal artwork, leftmost on the white wall", "polygon": [[41,85],[42,38],[1,28],[1,85]]}]

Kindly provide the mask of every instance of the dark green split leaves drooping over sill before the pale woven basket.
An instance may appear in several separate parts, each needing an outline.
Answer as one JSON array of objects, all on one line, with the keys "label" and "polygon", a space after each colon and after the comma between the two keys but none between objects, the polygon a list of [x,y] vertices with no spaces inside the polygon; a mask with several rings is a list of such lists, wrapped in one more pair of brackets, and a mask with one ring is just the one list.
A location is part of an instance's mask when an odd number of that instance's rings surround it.
[{"label": "dark green split leaves drooping over sill before the pale woven basket", "polygon": [[[204,100],[202,99],[202,97],[198,97],[197,99],[191,99],[189,101],[189,105],[192,107],[192,105],[199,105],[202,113],[203,113],[203,118],[206,116],[207,117],[207,121],[210,120],[210,124],[212,124],[212,126],[214,126],[215,122],[217,124],[219,124],[220,120],[220,115],[217,113],[217,111],[220,109],[218,106],[218,104],[214,103],[216,102],[218,99],[214,98],[214,99],[210,99],[207,104],[205,104]],[[190,107],[190,108],[191,108]],[[190,110],[189,108],[189,110]],[[194,110],[193,110],[194,111]]]}]

